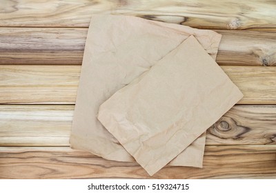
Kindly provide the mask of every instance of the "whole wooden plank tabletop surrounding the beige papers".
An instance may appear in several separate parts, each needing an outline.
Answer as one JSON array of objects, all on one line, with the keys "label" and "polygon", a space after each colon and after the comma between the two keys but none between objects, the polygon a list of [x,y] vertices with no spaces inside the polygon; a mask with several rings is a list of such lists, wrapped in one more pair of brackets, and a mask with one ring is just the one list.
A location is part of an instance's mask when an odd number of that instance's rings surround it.
[{"label": "whole wooden plank tabletop surrounding the beige papers", "polygon": [[208,130],[203,169],[165,167],[152,178],[276,178],[276,3],[269,0],[1,1],[0,178],[150,178],[137,163],[69,147],[92,13],[223,35],[217,63],[244,99]]}]

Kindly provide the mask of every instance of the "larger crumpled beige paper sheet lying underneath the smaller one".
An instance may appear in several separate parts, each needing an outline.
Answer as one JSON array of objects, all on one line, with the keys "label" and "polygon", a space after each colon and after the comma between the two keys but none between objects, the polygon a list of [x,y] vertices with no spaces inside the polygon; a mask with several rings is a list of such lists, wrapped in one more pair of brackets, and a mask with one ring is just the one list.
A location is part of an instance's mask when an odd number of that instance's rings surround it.
[{"label": "larger crumpled beige paper sheet lying underneath the smaller one", "polygon": [[[197,30],[138,17],[92,16],[83,54],[71,147],[87,150],[105,159],[134,161],[97,120],[99,105],[149,70],[190,34],[195,35],[215,59],[221,35],[211,30]],[[199,153],[190,155],[186,150],[179,155],[178,161],[171,164],[201,167],[205,135],[201,137],[204,139],[195,141],[191,147]]]}]

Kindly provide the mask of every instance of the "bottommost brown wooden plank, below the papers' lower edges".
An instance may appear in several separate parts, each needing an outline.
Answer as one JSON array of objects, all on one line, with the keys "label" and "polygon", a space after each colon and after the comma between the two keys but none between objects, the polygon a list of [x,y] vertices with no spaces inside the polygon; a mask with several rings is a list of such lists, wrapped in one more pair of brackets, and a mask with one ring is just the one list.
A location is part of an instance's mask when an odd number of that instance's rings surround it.
[{"label": "bottommost brown wooden plank, below the papers' lower edges", "polygon": [[150,177],[137,163],[70,148],[0,148],[1,179],[276,179],[276,145],[209,145],[204,167],[164,167]]}]

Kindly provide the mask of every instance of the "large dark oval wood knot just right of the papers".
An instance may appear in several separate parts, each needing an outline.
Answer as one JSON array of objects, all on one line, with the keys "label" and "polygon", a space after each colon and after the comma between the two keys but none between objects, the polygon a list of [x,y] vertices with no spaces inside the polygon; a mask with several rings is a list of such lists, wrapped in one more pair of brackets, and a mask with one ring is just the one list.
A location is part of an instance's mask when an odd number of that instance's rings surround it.
[{"label": "large dark oval wood knot just right of the papers", "polygon": [[222,116],[208,129],[208,133],[221,139],[240,139],[243,134],[249,131],[250,128],[237,125],[237,122],[228,116]]}]

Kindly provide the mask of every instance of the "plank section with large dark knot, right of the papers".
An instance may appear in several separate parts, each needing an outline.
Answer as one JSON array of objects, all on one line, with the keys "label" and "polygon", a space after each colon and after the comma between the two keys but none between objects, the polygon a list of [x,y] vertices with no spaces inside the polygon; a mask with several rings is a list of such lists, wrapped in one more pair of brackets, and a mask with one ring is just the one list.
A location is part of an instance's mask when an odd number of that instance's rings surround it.
[{"label": "plank section with large dark knot, right of the papers", "polygon": [[276,145],[276,105],[235,105],[207,130],[208,145]]}]

